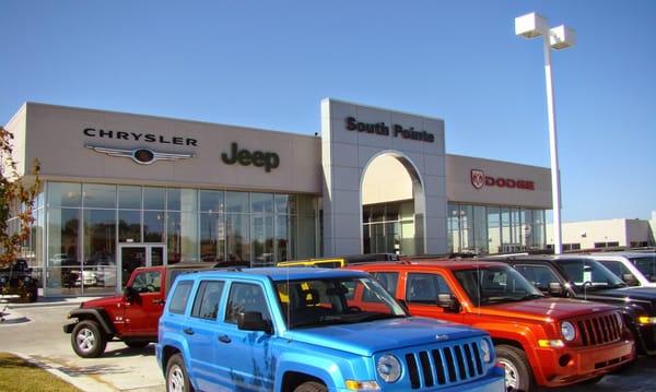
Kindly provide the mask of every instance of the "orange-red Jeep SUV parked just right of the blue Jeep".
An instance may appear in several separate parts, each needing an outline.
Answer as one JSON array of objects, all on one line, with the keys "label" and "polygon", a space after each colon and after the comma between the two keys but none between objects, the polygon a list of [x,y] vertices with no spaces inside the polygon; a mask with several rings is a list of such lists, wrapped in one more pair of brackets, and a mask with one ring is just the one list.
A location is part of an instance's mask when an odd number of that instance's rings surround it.
[{"label": "orange-red Jeep SUV parked just right of the blue Jeep", "polygon": [[594,382],[635,357],[618,308],[546,297],[503,263],[433,260],[349,269],[374,275],[413,316],[488,331],[513,391]]}]

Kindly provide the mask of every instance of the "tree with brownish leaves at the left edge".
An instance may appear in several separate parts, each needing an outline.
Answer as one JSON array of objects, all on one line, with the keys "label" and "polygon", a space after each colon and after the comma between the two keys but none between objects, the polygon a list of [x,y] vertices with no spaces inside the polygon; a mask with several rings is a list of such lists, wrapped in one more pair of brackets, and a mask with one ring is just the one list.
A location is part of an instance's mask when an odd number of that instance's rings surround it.
[{"label": "tree with brownish leaves at the left edge", "polygon": [[[33,180],[27,181],[19,174],[19,163],[12,154],[13,139],[10,131],[0,127],[0,266],[15,260],[23,243],[30,238],[34,223],[34,199],[40,187],[40,166],[37,159],[32,165]],[[10,233],[9,222],[14,217],[17,218],[20,228]]]}]

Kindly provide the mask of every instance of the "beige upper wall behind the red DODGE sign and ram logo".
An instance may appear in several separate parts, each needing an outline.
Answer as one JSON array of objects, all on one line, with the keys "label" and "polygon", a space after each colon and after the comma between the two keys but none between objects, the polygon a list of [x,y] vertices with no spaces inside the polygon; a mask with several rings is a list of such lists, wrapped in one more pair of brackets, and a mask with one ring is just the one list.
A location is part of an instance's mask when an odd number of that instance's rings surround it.
[{"label": "beige upper wall behind the red DODGE sign and ram logo", "polygon": [[[535,190],[489,186],[477,189],[471,183],[471,170],[473,169],[482,170],[485,176],[494,178],[532,181]],[[509,162],[447,154],[446,197],[449,202],[517,205],[550,210],[550,170],[543,167]]]}]

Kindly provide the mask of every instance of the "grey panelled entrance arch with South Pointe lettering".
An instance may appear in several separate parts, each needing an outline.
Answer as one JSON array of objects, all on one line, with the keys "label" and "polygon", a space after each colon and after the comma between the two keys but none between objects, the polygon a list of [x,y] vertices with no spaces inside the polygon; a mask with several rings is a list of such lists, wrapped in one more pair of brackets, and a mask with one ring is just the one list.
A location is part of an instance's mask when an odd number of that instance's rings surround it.
[{"label": "grey panelled entrance arch with South Pointe lettering", "polygon": [[321,102],[324,256],[365,251],[364,177],[382,157],[394,158],[410,177],[409,254],[445,253],[444,121],[327,98]]}]

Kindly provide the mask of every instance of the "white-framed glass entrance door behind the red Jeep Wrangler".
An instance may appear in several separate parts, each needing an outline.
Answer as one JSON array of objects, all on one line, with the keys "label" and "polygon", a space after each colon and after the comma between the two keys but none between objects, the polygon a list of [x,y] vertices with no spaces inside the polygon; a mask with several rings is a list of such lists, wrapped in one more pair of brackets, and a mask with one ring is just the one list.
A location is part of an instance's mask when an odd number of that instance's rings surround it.
[{"label": "white-framed glass entrance door behind the red Jeep Wrangler", "polygon": [[120,287],[126,286],[132,271],[139,266],[166,265],[166,246],[162,243],[120,243],[118,246]]}]

